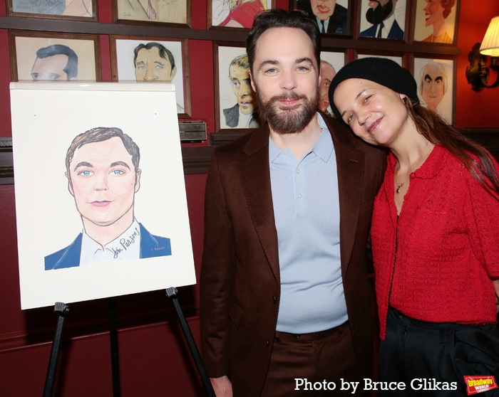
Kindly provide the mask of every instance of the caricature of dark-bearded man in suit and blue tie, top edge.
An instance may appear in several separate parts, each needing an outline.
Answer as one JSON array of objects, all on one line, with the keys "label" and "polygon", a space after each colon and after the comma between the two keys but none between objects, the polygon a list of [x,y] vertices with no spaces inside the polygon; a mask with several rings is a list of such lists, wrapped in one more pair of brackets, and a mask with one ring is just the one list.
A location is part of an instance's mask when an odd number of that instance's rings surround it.
[{"label": "caricature of dark-bearded man in suit and blue tie, top edge", "polygon": [[365,19],[371,26],[360,32],[361,37],[403,40],[406,0],[369,0],[367,5]]}]

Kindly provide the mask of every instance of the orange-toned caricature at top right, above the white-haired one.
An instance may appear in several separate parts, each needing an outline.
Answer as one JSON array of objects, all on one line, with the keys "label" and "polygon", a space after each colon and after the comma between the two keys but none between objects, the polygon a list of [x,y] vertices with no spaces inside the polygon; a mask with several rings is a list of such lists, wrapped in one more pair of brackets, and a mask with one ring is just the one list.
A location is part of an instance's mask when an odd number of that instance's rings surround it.
[{"label": "orange-toned caricature at top right, above the white-haired one", "polygon": [[416,0],[414,41],[456,44],[459,0]]}]

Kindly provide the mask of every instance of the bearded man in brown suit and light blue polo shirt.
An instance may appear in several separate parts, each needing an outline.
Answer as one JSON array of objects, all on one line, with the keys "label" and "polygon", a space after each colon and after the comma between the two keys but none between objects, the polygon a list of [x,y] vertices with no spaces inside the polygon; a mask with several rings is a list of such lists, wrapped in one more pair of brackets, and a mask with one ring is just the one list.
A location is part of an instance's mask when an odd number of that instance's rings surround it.
[{"label": "bearded man in brown suit and light blue polo shirt", "polygon": [[354,383],[341,388],[356,381],[360,395],[372,378],[366,245],[385,154],[317,112],[311,18],[264,11],[247,54],[267,122],[212,156],[200,279],[207,374],[219,397],[351,396]]}]

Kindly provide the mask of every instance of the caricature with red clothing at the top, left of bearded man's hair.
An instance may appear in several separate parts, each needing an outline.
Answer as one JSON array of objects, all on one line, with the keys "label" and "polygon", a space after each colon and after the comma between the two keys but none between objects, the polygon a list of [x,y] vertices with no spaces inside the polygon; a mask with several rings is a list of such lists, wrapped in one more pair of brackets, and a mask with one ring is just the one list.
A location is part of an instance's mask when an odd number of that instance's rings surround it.
[{"label": "caricature with red clothing at the top, left of bearded man's hair", "polygon": [[[265,1],[266,6],[262,4]],[[276,0],[249,0],[241,5],[231,0],[207,0],[208,28],[251,28],[253,18],[263,9],[275,9]],[[231,18],[232,16],[232,18]]]}]

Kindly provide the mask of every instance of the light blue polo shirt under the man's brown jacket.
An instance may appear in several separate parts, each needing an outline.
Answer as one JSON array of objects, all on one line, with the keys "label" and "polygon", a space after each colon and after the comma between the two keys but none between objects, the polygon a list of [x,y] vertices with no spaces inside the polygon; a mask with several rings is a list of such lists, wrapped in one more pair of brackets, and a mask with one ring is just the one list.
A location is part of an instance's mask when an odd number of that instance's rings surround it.
[{"label": "light blue polo shirt under the man's brown jacket", "polygon": [[277,331],[308,334],[348,319],[341,279],[339,196],[334,146],[322,132],[303,159],[269,139],[270,182],[279,240]]}]

